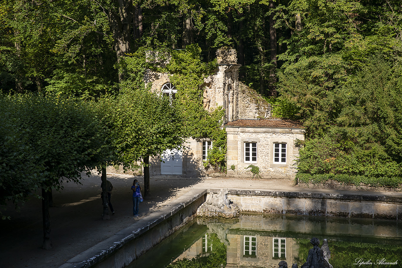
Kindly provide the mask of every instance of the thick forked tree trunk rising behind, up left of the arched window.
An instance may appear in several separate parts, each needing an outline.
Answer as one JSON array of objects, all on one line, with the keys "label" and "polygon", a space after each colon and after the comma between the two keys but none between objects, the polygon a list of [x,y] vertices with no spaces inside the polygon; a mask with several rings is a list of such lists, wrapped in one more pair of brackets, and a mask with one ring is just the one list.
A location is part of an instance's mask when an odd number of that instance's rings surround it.
[{"label": "thick forked tree trunk rising behind, up left of the arched window", "polygon": [[[117,62],[120,57],[130,53],[131,22],[133,20],[133,1],[119,1],[119,14],[114,10],[109,10],[110,28],[113,33],[113,47],[116,51]],[[119,82],[123,79],[123,74],[119,73]]]}]

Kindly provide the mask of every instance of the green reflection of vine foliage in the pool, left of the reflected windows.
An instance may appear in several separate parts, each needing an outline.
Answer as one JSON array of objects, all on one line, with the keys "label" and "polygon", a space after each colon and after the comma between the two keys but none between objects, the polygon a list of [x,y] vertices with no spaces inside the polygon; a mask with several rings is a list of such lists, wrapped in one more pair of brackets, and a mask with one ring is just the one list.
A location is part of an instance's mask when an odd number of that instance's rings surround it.
[{"label": "green reflection of vine foliage in the pool, left of the reflected windows", "polygon": [[197,256],[192,260],[184,258],[172,262],[167,268],[216,268],[226,266],[226,245],[222,243],[216,233],[207,233],[208,243],[212,244],[213,251],[207,256]]}]

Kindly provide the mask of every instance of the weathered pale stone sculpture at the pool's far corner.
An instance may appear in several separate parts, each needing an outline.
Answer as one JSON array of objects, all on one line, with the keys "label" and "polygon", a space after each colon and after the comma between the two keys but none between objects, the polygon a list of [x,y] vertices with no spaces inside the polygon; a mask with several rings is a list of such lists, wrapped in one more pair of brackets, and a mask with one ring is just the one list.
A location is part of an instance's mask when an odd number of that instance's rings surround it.
[{"label": "weathered pale stone sculpture at the pool's far corner", "polygon": [[197,209],[197,215],[201,217],[223,217],[231,219],[239,217],[239,207],[230,202],[227,188],[219,190],[217,194],[210,193],[205,203]]}]

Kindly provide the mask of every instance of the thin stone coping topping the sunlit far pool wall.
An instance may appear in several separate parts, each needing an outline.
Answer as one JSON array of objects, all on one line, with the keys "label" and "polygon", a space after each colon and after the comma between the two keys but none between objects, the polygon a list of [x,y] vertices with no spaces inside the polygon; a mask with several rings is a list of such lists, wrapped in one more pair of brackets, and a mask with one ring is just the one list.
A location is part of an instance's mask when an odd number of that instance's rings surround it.
[{"label": "thin stone coping topping the sunlit far pool wall", "polygon": [[[219,192],[220,188],[209,189],[208,192]],[[356,200],[356,201],[379,201],[379,202],[394,202],[402,203],[402,194],[384,194],[384,193],[319,193],[308,191],[275,191],[275,190],[238,190],[229,189],[229,194],[234,195],[248,195],[248,196],[278,196],[287,198],[326,198],[326,199],[340,199],[340,200]]]}]

